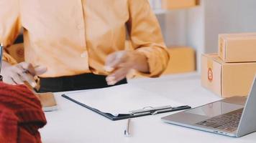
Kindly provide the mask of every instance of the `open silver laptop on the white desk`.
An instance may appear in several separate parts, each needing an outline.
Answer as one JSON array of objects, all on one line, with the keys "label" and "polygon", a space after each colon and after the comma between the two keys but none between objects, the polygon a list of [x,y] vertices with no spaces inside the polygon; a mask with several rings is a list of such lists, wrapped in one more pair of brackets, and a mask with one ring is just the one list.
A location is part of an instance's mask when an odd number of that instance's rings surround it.
[{"label": "open silver laptop on the white desk", "polygon": [[242,137],[256,131],[256,79],[249,96],[231,97],[163,117],[163,122],[206,132]]}]

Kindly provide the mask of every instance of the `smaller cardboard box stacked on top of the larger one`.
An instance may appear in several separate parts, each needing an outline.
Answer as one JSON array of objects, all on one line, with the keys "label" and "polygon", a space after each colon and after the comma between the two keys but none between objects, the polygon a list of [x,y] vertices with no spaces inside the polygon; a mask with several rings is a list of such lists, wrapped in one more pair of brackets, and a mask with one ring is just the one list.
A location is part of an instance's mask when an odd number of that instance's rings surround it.
[{"label": "smaller cardboard box stacked on top of the larger one", "polygon": [[256,61],[256,33],[219,34],[218,51],[225,62]]}]

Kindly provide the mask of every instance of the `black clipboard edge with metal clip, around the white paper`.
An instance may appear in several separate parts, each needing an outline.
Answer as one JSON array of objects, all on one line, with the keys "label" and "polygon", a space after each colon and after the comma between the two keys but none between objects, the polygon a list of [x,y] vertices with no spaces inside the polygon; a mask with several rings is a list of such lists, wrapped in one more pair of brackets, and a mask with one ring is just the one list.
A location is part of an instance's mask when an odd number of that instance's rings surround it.
[{"label": "black clipboard edge with metal clip, around the white paper", "polygon": [[112,121],[135,118],[135,117],[142,117],[142,116],[148,116],[148,115],[154,115],[154,114],[161,114],[161,113],[165,113],[165,112],[175,112],[175,111],[179,111],[179,110],[183,110],[183,109],[191,109],[191,107],[188,105],[180,106],[180,107],[170,107],[170,106],[145,107],[144,109],[133,110],[133,111],[131,111],[130,114],[119,114],[118,116],[114,116],[113,114],[101,112],[101,111],[99,111],[99,109],[89,107],[88,105],[78,102],[75,99],[72,99],[72,98],[66,96],[65,94],[62,94],[61,96],[64,97],[65,99],[70,100],[71,102],[74,102],[76,104],[81,105],[82,107],[85,107],[86,109],[90,109],[93,112],[101,114],[102,116],[104,116],[108,119],[111,119]]}]

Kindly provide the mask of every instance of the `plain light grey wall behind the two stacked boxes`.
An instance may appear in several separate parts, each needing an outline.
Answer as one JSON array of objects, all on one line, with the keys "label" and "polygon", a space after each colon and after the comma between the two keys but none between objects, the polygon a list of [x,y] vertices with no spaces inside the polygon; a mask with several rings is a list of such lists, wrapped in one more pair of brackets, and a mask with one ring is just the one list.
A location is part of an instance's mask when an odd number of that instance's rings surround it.
[{"label": "plain light grey wall behind the two stacked boxes", "polygon": [[205,52],[217,52],[218,34],[256,31],[256,0],[204,0]]}]

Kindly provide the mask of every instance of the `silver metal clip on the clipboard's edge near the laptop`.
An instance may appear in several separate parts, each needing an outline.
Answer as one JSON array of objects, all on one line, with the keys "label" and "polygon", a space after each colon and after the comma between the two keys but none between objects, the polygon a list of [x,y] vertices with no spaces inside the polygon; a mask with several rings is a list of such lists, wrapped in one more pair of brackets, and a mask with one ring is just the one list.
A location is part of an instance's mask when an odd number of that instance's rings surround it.
[{"label": "silver metal clip on the clipboard's edge near the laptop", "polygon": [[164,107],[144,107],[143,109],[132,110],[130,111],[130,113],[133,115],[143,115],[143,114],[154,115],[154,114],[160,114],[165,112],[175,112],[183,109],[191,109],[191,107],[188,105],[179,106],[179,107],[172,107],[170,105],[164,106]]}]

